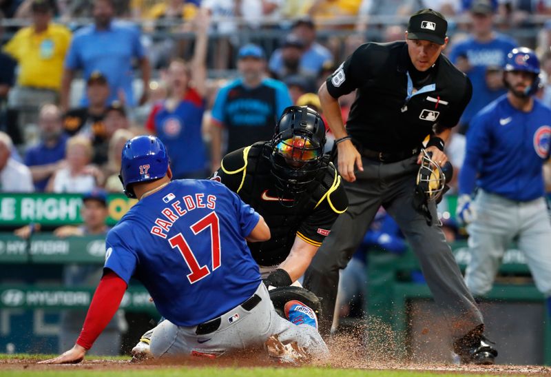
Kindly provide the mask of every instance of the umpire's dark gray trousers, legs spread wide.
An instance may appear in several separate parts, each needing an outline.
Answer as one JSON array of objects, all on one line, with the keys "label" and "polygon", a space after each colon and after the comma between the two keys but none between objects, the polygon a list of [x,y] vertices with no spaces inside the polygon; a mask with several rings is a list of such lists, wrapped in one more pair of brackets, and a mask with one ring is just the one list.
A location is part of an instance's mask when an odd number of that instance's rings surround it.
[{"label": "umpire's dark gray trousers, legs spread wide", "polygon": [[417,156],[397,163],[368,159],[362,159],[362,163],[364,171],[355,172],[355,182],[343,180],[349,209],[337,218],[304,276],[304,287],[322,298],[326,320],[320,323],[320,332],[328,334],[331,329],[339,269],[346,267],[381,205],[395,219],[419,258],[428,287],[444,309],[453,336],[461,336],[483,323],[444,234],[439,227],[428,226],[424,215],[413,207]]}]

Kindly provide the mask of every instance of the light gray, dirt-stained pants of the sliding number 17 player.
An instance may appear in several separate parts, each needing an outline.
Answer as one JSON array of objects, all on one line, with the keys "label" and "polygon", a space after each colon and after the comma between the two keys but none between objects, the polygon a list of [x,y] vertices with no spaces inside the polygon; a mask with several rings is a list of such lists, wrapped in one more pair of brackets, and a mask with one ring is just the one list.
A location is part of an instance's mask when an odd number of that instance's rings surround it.
[{"label": "light gray, dirt-stained pants of the sliding number 17 player", "polygon": [[164,320],[155,327],[152,335],[153,356],[217,357],[231,351],[262,347],[274,334],[282,343],[296,341],[313,358],[329,356],[317,329],[310,325],[295,325],[275,312],[264,283],[260,283],[255,294],[261,298],[256,307],[248,312],[238,306],[222,314],[220,327],[209,334],[197,335],[196,326],[177,326]]}]

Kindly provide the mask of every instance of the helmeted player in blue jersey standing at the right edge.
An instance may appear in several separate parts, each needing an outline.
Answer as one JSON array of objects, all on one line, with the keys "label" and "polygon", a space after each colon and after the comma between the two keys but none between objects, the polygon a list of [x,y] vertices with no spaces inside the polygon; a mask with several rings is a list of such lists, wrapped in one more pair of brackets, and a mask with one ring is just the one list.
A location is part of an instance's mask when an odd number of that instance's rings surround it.
[{"label": "helmeted player in blue jersey standing at the right edge", "polygon": [[490,291],[513,239],[537,288],[551,296],[551,223],[542,174],[550,152],[551,109],[534,98],[538,75],[532,50],[509,52],[503,72],[507,94],[481,110],[467,134],[457,215],[468,223],[465,281],[475,296]]}]

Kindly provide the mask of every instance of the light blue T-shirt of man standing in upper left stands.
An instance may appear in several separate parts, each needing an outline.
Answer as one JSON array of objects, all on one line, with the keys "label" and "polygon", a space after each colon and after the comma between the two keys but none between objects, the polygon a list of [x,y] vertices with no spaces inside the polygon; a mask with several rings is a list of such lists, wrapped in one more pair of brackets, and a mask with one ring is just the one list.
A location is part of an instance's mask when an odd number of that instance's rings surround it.
[{"label": "light blue T-shirt of man standing in upper left stands", "polygon": [[[132,59],[145,57],[145,50],[140,41],[140,32],[132,23],[112,21],[107,30],[97,30],[96,26],[87,26],[77,31],[67,51],[65,68],[83,70],[88,79],[92,72],[101,72],[110,87],[107,103],[119,99],[118,93],[123,90],[125,103],[136,105],[132,90]],[[84,90],[81,106],[87,107]]]}]

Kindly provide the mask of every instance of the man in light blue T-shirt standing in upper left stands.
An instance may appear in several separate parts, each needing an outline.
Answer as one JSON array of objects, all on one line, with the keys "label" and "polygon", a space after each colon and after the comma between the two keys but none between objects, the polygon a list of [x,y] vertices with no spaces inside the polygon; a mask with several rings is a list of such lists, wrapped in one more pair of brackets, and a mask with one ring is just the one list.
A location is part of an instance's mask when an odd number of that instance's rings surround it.
[{"label": "man in light blue T-shirt standing in upper left stands", "polygon": [[[136,105],[132,91],[132,60],[137,59],[141,68],[143,88],[149,83],[149,61],[140,41],[140,32],[133,24],[114,21],[112,0],[94,1],[94,25],[77,31],[65,58],[65,70],[61,83],[61,107],[67,110],[70,86],[76,70],[83,70],[85,79],[92,72],[101,72],[110,85],[107,103],[121,101],[129,107]],[[139,103],[145,103],[147,91]],[[87,105],[84,94],[81,105]]]}]

